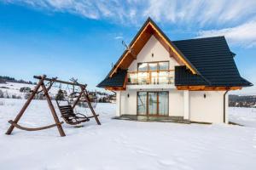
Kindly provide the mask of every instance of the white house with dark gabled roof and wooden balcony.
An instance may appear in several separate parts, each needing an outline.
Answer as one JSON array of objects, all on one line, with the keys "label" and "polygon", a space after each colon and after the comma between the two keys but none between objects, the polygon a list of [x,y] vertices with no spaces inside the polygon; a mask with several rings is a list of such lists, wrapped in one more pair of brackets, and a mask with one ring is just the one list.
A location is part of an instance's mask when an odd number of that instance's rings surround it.
[{"label": "white house with dark gabled roof and wooden balcony", "polygon": [[148,18],[97,87],[116,92],[116,115],[228,122],[230,90],[253,86],[224,37],[171,41]]}]

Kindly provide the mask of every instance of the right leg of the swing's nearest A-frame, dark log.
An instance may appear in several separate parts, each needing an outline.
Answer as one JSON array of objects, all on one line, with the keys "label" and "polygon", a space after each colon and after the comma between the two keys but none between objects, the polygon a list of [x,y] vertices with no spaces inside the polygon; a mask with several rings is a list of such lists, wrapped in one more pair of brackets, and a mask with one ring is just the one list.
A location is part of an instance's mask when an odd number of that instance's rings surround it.
[{"label": "right leg of the swing's nearest A-frame, dark log", "polygon": [[50,100],[50,98],[49,98],[48,90],[47,90],[47,88],[44,86],[44,83],[42,83],[42,88],[43,88],[43,91],[44,91],[44,95],[45,95],[45,97],[46,97],[46,99],[47,99],[47,103],[48,103],[48,105],[49,105],[49,109],[50,109],[50,111],[51,111],[51,114],[52,114],[52,116],[53,116],[54,119],[55,119],[55,123],[57,124],[59,133],[60,133],[61,137],[66,136],[66,134],[64,133],[63,128],[62,128],[62,126],[61,126],[61,122],[60,122],[60,120],[59,120],[59,118],[58,118],[58,116],[57,116],[57,114],[56,114],[54,105],[52,104],[52,102],[51,102],[51,100]]}]

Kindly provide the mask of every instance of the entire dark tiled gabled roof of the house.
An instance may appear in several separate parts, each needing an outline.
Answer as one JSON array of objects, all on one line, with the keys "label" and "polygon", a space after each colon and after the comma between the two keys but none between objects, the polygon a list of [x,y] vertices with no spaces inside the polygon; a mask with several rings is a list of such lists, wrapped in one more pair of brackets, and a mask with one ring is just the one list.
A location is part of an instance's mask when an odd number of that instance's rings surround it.
[{"label": "entire dark tiled gabled roof of the house", "polygon": [[[151,23],[160,34],[166,39],[168,43],[182,56],[186,63],[189,64],[190,70],[184,66],[177,66],[175,69],[175,85],[176,86],[195,86],[205,85],[211,87],[247,87],[253,86],[242,78],[236,68],[235,60],[233,59],[236,54],[230,51],[230,48],[224,37],[205,37],[189,40],[171,41],[160,30],[153,20],[148,18],[137,36],[133,38],[130,43],[133,44],[137,37],[143,31],[143,28]],[[117,69],[119,62],[125,58],[127,50],[121,55],[116,65],[108,73],[108,76],[98,84],[97,87],[123,87],[125,83],[126,70]],[[187,65],[188,66],[188,65]],[[191,71],[195,71],[192,74]],[[112,77],[110,75],[113,74]]]}]

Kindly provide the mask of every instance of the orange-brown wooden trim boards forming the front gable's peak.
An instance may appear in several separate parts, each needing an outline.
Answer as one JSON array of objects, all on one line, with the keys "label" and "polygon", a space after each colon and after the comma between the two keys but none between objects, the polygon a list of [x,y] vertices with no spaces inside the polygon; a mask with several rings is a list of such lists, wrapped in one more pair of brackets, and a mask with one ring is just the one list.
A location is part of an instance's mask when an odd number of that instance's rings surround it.
[{"label": "orange-brown wooden trim boards forming the front gable's peak", "polygon": [[[191,67],[191,65],[189,65],[189,63],[186,61],[186,59],[184,59],[183,56],[177,52],[176,48],[174,48],[174,47],[172,46],[172,44],[171,44],[169,41],[166,40],[166,37],[164,37],[164,36],[162,35],[162,33],[151,23],[151,21],[149,21],[148,24],[147,24],[146,26],[144,26],[143,31],[141,31],[141,33],[138,35],[137,39],[136,39],[134,42],[132,42],[131,48],[133,48],[134,45],[136,44],[136,42],[138,41],[138,39],[139,39],[140,37],[142,37],[143,32],[146,31],[146,29],[148,28],[148,26],[151,26],[152,29],[153,29],[154,31],[156,31],[157,34],[163,39],[163,41],[166,42],[166,44],[172,49],[173,53],[176,54],[177,57],[182,60],[182,62],[184,63],[184,65],[186,65],[186,66],[189,68],[189,70],[192,71],[193,74],[196,74],[195,69],[193,69],[193,68]],[[114,69],[113,69],[113,71],[111,72],[111,74],[109,75],[109,77],[112,77],[112,76],[113,76],[113,74],[114,74],[114,73],[117,71],[117,69],[119,68],[119,65],[123,62],[123,60],[125,59],[125,57],[126,57],[128,54],[130,54],[130,53],[131,53],[130,51],[126,50],[125,54],[123,55],[122,59],[119,61],[118,65],[114,65]]]}]

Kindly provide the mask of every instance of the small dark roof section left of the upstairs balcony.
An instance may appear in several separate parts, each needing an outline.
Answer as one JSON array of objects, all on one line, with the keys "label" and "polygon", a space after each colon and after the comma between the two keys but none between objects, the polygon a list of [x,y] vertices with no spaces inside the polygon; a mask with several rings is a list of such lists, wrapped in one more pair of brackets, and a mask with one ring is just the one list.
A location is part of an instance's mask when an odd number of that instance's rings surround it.
[{"label": "small dark roof section left of the upstairs balcony", "polygon": [[108,88],[108,87],[123,87],[125,83],[127,71],[118,70],[113,74],[113,77],[106,77],[102,82],[100,82],[98,88]]}]

